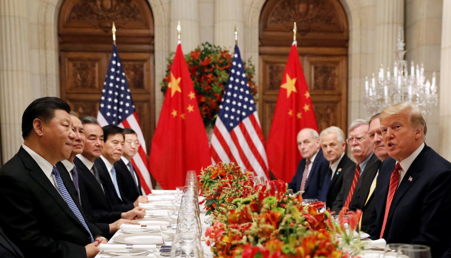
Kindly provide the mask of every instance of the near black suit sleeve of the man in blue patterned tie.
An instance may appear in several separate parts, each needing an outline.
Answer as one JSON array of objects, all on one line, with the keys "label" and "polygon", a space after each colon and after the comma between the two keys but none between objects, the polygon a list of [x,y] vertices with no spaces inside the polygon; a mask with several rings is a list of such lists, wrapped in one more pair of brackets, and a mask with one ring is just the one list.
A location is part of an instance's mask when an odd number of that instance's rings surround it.
[{"label": "near black suit sleeve of the man in blue patterned tie", "polygon": [[0,195],[0,207],[3,207],[0,220],[8,225],[9,234],[20,249],[47,253],[50,258],[86,258],[86,249],[82,245],[39,235],[38,220],[33,215],[30,193],[17,179],[1,175]]}]

